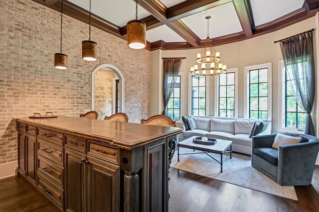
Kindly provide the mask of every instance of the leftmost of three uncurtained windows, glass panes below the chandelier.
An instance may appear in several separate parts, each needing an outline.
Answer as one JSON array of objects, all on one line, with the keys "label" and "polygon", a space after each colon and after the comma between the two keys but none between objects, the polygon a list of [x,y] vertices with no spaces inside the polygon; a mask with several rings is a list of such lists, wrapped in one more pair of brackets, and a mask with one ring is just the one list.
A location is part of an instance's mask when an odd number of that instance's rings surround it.
[{"label": "leftmost of three uncurtained windows, glass panes below the chandelier", "polygon": [[206,77],[191,76],[191,115],[206,115]]}]

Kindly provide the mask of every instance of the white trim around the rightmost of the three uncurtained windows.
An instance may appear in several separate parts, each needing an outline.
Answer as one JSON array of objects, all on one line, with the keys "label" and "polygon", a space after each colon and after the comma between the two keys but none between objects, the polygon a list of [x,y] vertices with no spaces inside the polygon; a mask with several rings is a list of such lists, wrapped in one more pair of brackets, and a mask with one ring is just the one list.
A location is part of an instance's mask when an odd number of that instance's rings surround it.
[{"label": "white trim around the rightmost of the three uncurtained windows", "polygon": [[253,66],[245,66],[244,67],[244,117],[249,118],[249,71],[255,69],[268,69],[268,120],[272,120],[272,63],[264,63]]}]

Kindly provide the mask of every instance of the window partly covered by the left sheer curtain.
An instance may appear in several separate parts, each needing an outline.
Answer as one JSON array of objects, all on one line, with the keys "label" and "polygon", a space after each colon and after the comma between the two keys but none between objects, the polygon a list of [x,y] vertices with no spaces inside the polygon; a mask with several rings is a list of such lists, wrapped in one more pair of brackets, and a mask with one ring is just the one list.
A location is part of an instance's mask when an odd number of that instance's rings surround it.
[{"label": "window partly covered by the left sheer curtain", "polygon": [[166,107],[166,114],[174,120],[180,119],[180,93],[180,76],[177,76],[173,93]]}]

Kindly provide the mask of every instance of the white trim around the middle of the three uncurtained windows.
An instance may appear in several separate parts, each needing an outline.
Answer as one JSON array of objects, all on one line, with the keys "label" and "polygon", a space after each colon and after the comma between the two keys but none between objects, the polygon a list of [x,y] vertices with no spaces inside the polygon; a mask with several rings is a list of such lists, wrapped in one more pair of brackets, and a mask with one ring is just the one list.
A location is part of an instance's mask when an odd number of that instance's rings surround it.
[{"label": "white trim around the middle of the three uncurtained windows", "polygon": [[[238,68],[232,68],[232,69],[227,69],[226,73],[235,73],[234,76],[234,83],[235,83],[235,99],[234,99],[234,118],[238,117]],[[219,80],[218,77],[215,77],[215,111],[214,111],[214,116],[218,116],[218,110],[219,110],[219,104],[218,104],[218,99],[219,99]]]}]

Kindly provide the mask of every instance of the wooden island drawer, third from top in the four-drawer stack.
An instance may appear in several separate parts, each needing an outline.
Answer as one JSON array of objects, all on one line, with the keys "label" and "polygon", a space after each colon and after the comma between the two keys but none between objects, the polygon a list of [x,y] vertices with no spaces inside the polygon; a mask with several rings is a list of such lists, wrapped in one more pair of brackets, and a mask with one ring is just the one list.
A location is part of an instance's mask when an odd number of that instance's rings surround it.
[{"label": "wooden island drawer, third from top in the four-drawer stack", "polygon": [[59,186],[63,186],[63,167],[55,165],[55,163],[38,155],[38,172],[54,181]]}]

